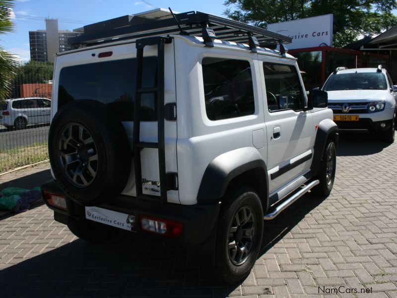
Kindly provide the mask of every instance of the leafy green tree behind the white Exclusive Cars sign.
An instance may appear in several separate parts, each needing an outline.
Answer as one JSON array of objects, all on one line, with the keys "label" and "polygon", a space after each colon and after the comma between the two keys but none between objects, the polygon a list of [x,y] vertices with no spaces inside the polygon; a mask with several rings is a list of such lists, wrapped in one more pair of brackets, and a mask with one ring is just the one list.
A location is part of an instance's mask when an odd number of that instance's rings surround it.
[{"label": "leafy green tree behind the white Exclusive Cars sign", "polygon": [[224,4],[235,7],[225,10],[228,17],[264,28],[271,23],[332,13],[336,47],[397,23],[392,13],[397,8],[396,0],[226,0]]}]

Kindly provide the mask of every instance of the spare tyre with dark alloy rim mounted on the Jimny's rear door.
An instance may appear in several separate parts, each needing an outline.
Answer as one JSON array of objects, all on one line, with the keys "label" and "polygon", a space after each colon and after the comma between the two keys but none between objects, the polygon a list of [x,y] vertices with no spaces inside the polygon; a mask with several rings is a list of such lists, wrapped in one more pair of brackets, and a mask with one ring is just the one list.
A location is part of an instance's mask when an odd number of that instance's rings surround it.
[{"label": "spare tyre with dark alloy rim mounted on the Jimny's rear door", "polygon": [[95,100],[75,100],[55,115],[48,139],[58,184],[74,202],[93,206],[120,194],[131,149],[119,117]]}]

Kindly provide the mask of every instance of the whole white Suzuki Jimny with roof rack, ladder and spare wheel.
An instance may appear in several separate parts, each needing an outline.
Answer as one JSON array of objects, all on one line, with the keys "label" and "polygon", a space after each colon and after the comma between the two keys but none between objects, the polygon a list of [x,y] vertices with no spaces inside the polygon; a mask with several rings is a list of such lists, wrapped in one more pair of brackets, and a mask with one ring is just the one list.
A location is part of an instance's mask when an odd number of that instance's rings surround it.
[{"label": "whole white Suzuki Jimny with roof rack, ladder and spare wheel", "polygon": [[241,280],[264,220],[331,192],[327,92],[307,98],[289,37],[201,12],[155,17],[85,26],[57,55],[43,195],[82,239],[145,233]]}]

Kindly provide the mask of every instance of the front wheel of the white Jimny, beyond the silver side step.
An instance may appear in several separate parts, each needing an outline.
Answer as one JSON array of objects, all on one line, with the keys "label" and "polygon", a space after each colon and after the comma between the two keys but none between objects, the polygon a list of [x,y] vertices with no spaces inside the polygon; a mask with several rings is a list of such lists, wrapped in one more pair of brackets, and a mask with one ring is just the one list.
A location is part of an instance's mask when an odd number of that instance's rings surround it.
[{"label": "front wheel of the white Jimny, beyond the silver side step", "polygon": [[324,152],[320,165],[320,172],[317,179],[320,183],[312,188],[312,193],[328,197],[331,193],[336,170],[336,147],[333,141],[329,141]]}]

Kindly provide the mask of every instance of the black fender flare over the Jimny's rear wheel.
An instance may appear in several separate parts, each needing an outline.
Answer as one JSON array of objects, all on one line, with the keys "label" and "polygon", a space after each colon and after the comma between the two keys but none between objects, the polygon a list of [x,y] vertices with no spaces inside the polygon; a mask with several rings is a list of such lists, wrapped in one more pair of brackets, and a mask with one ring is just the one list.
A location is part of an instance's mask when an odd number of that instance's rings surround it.
[{"label": "black fender flare over the Jimny's rear wheel", "polygon": [[267,167],[262,155],[252,147],[231,150],[215,157],[204,171],[197,202],[216,202],[224,196],[230,181],[249,170],[255,171],[255,177],[252,179],[257,179],[260,188],[258,195],[264,210],[267,210],[269,185]]}]

